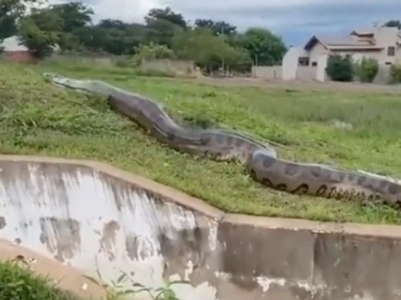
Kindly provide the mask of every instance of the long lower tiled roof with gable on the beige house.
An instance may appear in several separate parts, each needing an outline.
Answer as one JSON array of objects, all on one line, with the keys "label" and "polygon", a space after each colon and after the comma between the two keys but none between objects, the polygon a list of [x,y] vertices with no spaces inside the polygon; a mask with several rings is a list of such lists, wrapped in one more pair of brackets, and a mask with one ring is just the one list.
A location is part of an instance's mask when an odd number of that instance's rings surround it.
[{"label": "long lower tiled roof with gable on the beige house", "polygon": [[347,36],[323,36],[313,35],[309,41],[305,44],[304,49],[311,49],[316,42],[322,43],[326,48],[330,50],[342,50],[342,49],[382,49],[382,46],[376,45],[374,40],[358,40],[353,38],[351,35]]}]

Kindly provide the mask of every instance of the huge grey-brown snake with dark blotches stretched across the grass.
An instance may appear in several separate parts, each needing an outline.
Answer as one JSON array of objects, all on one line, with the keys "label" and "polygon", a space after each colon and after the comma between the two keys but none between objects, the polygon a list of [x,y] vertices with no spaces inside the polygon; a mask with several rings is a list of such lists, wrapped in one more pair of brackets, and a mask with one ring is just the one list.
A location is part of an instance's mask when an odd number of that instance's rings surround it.
[{"label": "huge grey-brown snake with dark blotches stretched across the grass", "polygon": [[157,102],[108,83],[75,80],[52,73],[44,73],[44,77],[57,85],[107,95],[111,107],[135,120],[158,141],[189,154],[238,160],[255,180],[269,187],[323,197],[401,203],[401,184],[392,179],[323,164],[286,161],[277,157],[273,147],[245,133],[181,127]]}]

